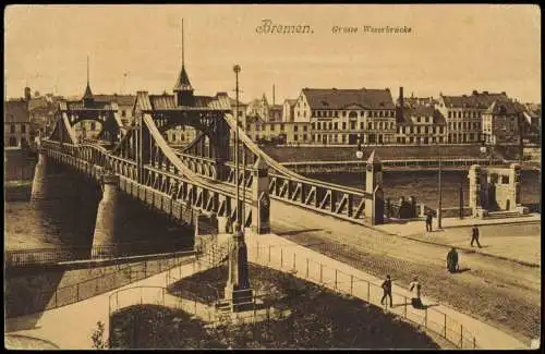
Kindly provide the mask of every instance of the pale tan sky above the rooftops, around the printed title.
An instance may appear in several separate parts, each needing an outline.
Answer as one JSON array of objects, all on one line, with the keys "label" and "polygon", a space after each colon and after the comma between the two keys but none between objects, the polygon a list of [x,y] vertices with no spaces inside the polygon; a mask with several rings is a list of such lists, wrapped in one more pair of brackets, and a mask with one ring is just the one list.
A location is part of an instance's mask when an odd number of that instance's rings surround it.
[{"label": "pale tan sky above the rooftops, around the printed title", "polygon": [[[530,4],[10,5],[4,12],[8,97],[81,96],[89,56],[95,94],[172,91],[184,57],[196,95],[311,88],[390,88],[437,97],[473,89],[541,101],[541,12]],[[312,34],[259,34],[263,20]],[[334,33],[334,26],[356,33]],[[364,26],[410,27],[408,34]]]}]

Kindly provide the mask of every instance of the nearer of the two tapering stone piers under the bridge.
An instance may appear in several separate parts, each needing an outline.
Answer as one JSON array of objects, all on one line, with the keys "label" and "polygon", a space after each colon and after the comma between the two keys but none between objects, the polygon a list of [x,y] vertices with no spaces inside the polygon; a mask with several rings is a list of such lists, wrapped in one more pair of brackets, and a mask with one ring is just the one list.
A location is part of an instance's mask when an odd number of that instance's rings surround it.
[{"label": "nearer of the two tapering stone piers under the bridge", "polygon": [[93,235],[93,257],[101,255],[111,256],[114,252],[114,241],[117,231],[119,175],[102,175],[102,198],[98,204],[95,233]]}]

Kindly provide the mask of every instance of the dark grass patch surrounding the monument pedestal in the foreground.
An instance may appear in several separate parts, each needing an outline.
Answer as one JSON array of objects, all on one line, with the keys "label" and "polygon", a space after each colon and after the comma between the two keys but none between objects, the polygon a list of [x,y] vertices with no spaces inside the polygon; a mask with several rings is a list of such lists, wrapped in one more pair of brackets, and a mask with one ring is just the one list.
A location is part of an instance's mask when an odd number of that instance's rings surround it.
[{"label": "dark grass patch surrounding the monument pedestal in the foreground", "polygon": [[[289,308],[287,318],[257,324],[221,322],[205,328],[180,310],[133,306],[112,316],[113,347],[233,347],[233,349],[438,349],[425,333],[395,315],[361,300],[339,295],[319,285],[270,268],[250,264],[252,288],[266,294],[276,308]],[[222,295],[227,266],[194,274],[169,291]],[[206,284],[206,285],[203,285]],[[205,290],[206,289],[206,290]],[[215,289],[215,290],[213,290]],[[178,319],[175,319],[178,318]],[[172,325],[177,324],[177,325]],[[155,334],[154,334],[155,333]]]}]

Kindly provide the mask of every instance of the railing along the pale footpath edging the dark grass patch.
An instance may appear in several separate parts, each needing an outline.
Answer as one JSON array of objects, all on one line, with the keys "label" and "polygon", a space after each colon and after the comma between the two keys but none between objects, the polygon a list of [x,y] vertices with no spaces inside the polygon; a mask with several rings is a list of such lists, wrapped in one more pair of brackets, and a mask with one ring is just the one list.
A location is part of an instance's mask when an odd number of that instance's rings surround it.
[{"label": "railing along the pale footpath edging the dark grass patch", "polygon": [[[340,249],[332,245],[317,245],[320,253],[326,255],[337,254]],[[386,310],[400,316],[424,331],[431,331],[440,335],[456,347],[477,349],[476,338],[470,333],[462,324],[448,316],[446,313],[434,308],[437,304],[427,304],[420,308],[411,306],[411,301],[404,294],[392,292],[393,306],[389,307],[388,298],[385,304],[380,303],[383,296],[382,284],[372,280],[362,279],[354,274],[347,273],[335,267],[327,266],[308,257],[298,254],[296,247],[282,246],[259,246],[250,247],[254,253],[252,258],[257,264],[282,271],[289,271],[298,278],[310,280],[339,293],[359,297],[375,306],[384,307]],[[358,259],[358,255],[349,247],[342,247],[342,254],[353,254],[352,259]],[[250,259],[251,260],[251,259]],[[350,264],[350,261],[349,261]]]}]

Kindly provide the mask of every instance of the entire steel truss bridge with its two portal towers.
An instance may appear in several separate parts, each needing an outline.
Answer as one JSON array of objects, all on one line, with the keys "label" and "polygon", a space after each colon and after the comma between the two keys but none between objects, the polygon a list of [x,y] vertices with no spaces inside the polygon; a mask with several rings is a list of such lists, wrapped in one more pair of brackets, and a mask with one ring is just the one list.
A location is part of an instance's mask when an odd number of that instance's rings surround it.
[{"label": "entire steel truss bridge with its two portal towers", "polygon": [[[257,227],[259,220],[269,219],[268,198],[366,223],[365,199],[373,198],[372,193],[308,179],[281,166],[245,135],[230,111],[226,105],[158,109],[147,93],[140,91],[134,123],[123,129],[116,107],[104,110],[60,106],[56,126],[40,142],[39,151],[48,160],[97,181],[105,174],[117,174],[121,191],[182,222],[193,223],[195,213],[238,220],[233,161],[238,129],[239,156],[245,161],[239,175],[244,186],[244,202],[240,203],[246,205],[245,227]],[[78,141],[74,124],[82,120],[101,123],[100,142]],[[179,150],[164,137],[177,125],[197,131],[195,139]],[[264,176],[268,179],[267,187],[259,190],[257,179]],[[267,206],[265,211],[263,206]],[[263,213],[261,218],[256,212]]]}]

